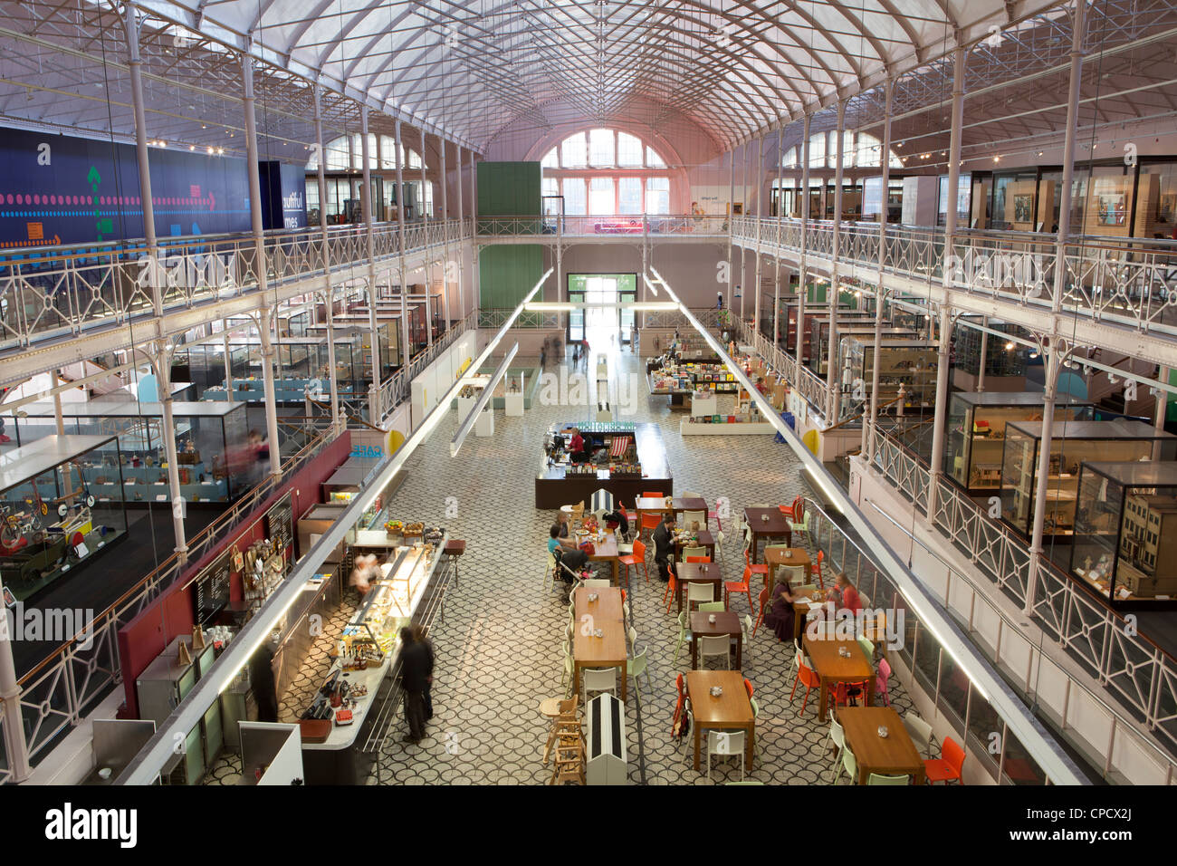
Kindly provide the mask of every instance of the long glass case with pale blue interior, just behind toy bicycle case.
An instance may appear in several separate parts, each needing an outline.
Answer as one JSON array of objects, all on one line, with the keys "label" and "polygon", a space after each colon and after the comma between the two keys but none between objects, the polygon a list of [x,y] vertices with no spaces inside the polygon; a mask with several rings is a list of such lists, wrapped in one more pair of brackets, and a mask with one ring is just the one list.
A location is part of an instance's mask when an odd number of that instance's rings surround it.
[{"label": "long glass case with pale blue interior, just behind toy bicycle case", "polygon": [[[260,464],[248,451],[248,421],[241,402],[173,402],[180,495],[188,502],[230,502],[259,478]],[[56,434],[52,403],[31,403],[15,418],[21,444]],[[118,467],[86,468],[95,496],[126,502],[168,502],[167,448],[161,403],[65,403],[67,434],[114,435]]]}]

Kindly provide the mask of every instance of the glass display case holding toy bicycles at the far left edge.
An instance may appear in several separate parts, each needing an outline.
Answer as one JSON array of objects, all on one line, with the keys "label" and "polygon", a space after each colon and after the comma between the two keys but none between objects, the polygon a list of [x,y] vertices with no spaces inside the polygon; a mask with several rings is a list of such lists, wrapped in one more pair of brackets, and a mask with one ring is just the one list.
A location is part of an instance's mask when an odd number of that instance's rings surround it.
[{"label": "glass display case holding toy bicycles at the far left edge", "polygon": [[0,454],[0,577],[12,599],[28,599],[126,536],[122,498],[93,483],[102,472],[119,487],[121,464],[114,436],[54,434]]}]

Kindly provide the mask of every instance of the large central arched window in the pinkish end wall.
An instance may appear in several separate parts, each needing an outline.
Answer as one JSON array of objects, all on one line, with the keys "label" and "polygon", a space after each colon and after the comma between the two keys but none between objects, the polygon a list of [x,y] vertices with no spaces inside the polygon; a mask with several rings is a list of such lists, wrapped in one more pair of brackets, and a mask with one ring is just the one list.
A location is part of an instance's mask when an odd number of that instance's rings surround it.
[{"label": "large central arched window in the pinkish end wall", "polygon": [[567,216],[670,213],[671,167],[629,132],[599,127],[573,133],[545,153],[540,165],[543,194],[563,197]]}]

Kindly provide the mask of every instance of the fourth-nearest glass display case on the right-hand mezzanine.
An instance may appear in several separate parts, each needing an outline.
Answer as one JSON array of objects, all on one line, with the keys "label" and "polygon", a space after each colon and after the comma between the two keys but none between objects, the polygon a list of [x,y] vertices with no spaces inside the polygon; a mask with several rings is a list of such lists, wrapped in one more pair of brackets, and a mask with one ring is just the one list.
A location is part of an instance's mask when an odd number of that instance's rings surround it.
[{"label": "fourth-nearest glass display case on the right-hand mezzanine", "polygon": [[[910,332],[909,332],[910,333]],[[842,338],[842,417],[863,410],[875,382],[875,332]],[[879,345],[879,411],[899,397],[905,410],[919,411],[936,403],[936,371],[939,358],[935,343],[919,339],[886,339]]]}]

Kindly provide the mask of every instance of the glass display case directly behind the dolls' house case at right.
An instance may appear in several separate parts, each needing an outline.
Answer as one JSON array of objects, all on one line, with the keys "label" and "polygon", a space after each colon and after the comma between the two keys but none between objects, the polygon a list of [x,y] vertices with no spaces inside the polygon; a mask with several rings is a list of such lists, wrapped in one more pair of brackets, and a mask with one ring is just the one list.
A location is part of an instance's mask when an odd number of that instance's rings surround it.
[{"label": "glass display case directly behind the dolls' house case at right", "polygon": [[[1070,540],[1075,534],[1080,463],[1149,461],[1153,445],[1159,460],[1177,457],[1177,436],[1142,421],[1069,421],[1055,424],[1046,480],[1045,535]],[[1005,425],[1002,517],[1026,537],[1033,530],[1040,448],[1040,421],[1017,421]]]}]

